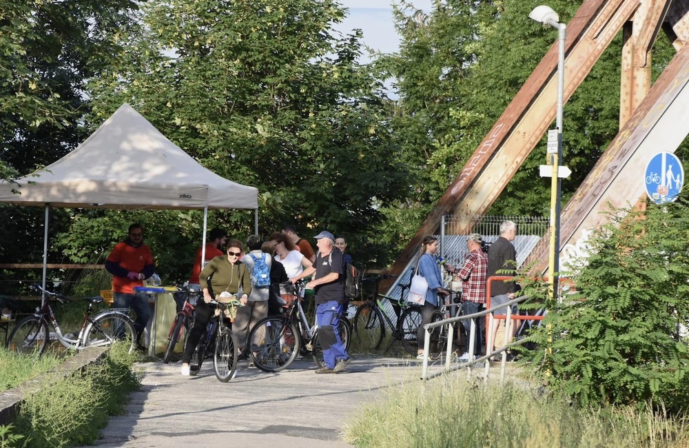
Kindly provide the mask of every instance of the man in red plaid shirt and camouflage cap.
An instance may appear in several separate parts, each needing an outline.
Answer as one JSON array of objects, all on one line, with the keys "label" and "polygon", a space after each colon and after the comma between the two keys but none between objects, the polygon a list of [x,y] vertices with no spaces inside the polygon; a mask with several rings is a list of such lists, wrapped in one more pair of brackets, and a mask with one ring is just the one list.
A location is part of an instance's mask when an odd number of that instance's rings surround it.
[{"label": "man in red plaid shirt and camouflage cap", "polygon": [[[488,272],[488,256],[481,249],[481,235],[471,234],[466,240],[469,255],[464,260],[464,266],[459,269],[457,275],[462,279],[462,314],[464,316],[479,312],[486,303],[486,273]],[[456,271],[456,269],[455,269]],[[475,318],[476,334],[474,339],[473,354],[481,356],[481,338],[484,332],[484,318]],[[466,330],[466,344],[469,345],[471,332],[471,320],[462,320]],[[469,360],[469,347],[460,360]]]}]

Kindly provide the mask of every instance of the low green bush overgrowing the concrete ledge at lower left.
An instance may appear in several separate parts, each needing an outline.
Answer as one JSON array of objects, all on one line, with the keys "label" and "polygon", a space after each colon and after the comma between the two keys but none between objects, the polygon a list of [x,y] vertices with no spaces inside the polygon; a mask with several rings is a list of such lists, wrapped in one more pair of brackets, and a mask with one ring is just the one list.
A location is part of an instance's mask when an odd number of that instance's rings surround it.
[{"label": "low green bush overgrowing the concrete ledge at lower left", "polygon": [[[90,445],[110,415],[121,414],[130,391],[139,387],[132,372],[135,354],[116,344],[100,363],[68,376],[54,374],[21,405],[14,434],[30,447]],[[8,445],[13,446],[13,445]]]}]

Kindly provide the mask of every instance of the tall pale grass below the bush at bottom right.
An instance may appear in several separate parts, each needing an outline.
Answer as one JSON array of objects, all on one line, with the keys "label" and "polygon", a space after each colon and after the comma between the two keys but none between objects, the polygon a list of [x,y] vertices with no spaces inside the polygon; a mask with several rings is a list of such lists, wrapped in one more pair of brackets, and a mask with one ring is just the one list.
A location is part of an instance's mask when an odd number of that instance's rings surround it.
[{"label": "tall pale grass below the bush at bottom right", "polygon": [[652,411],[577,409],[524,385],[473,384],[462,375],[409,378],[357,412],[344,439],[357,447],[689,447],[682,418]]}]

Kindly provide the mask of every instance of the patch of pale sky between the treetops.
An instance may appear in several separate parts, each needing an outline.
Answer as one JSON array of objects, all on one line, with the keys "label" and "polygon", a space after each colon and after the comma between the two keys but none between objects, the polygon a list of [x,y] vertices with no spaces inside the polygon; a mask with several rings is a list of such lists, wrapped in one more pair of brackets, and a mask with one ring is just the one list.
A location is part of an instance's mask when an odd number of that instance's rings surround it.
[{"label": "patch of pale sky between the treetops", "polygon": [[[340,0],[342,6],[349,8],[349,15],[336,29],[351,32],[360,28],[364,33],[364,43],[374,50],[395,52],[400,37],[395,32],[392,20],[392,3],[394,0]],[[425,12],[431,10],[431,0],[411,0],[415,8]],[[362,60],[367,61],[368,58]]]}]

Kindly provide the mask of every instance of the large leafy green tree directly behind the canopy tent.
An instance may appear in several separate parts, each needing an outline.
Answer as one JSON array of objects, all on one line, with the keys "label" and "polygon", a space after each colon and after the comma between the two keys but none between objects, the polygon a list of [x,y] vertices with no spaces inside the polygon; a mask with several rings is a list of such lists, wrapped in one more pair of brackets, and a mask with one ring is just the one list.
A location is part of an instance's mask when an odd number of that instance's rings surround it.
[{"label": "large leafy green tree directly behind the canopy tent", "polygon": [[92,83],[90,120],[132,103],[205,167],[258,187],[264,232],[328,228],[357,247],[409,186],[382,84],[356,61],[360,32],[331,28],[344,14],[333,1],[150,2]]}]

